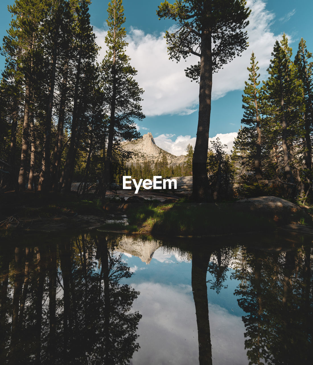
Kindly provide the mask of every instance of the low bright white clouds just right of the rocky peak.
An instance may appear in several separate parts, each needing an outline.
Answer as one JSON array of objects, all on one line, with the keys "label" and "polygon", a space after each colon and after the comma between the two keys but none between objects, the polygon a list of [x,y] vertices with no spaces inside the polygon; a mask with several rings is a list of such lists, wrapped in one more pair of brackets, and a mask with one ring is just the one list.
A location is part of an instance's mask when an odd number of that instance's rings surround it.
[{"label": "low bright white clouds just right of the rocky peak", "polygon": [[[191,138],[190,135],[179,135],[175,141],[172,140],[172,137],[174,137],[174,134],[161,134],[154,138],[154,142],[157,146],[175,156],[185,155],[187,153],[186,147],[189,143],[195,148],[196,137]],[[223,145],[227,145],[226,153],[230,153],[236,137],[237,132],[218,133],[215,137],[209,138],[209,147],[211,147],[212,142],[216,138],[219,138]]]}]

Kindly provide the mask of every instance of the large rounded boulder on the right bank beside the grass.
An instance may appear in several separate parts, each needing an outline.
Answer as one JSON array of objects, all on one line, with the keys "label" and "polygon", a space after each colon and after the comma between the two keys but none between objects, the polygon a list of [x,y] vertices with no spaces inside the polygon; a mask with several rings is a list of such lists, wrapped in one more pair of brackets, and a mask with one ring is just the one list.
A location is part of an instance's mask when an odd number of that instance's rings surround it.
[{"label": "large rounded boulder on the right bank beside the grass", "polygon": [[298,205],[275,196],[259,196],[234,203],[235,210],[263,216],[276,223],[290,222],[294,215],[305,215]]}]

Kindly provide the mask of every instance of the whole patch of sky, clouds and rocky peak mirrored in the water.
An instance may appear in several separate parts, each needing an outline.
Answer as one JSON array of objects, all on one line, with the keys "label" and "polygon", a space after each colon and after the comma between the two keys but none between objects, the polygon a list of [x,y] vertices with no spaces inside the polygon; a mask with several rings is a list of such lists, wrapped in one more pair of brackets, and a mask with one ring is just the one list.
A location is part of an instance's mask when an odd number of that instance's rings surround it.
[{"label": "whole patch of sky, clouds and rocky peak mirrored in the water", "polygon": [[[132,252],[137,251],[148,257],[150,243],[152,247],[153,243],[140,241],[140,238],[132,243],[129,238],[121,239],[122,247],[123,244],[132,247]],[[134,353],[133,363],[159,365],[175,358],[175,364],[196,364],[199,353],[191,262],[184,261],[185,257],[175,251],[164,251],[162,247],[154,251],[149,265],[129,253],[124,253],[122,257],[134,274],[121,283],[130,284],[140,292],[132,306],[132,311],[137,310],[142,315],[137,331],[141,348]],[[214,364],[244,365],[249,362],[244,349],[242,316],[245,313],[238,306],[238,297],[234,296],[239,281],[230,280],[233,271],[230,269],[227,272],[224,285],[228,287],[222,288],[219,294],[208,284]],[[211,278],[208,273],[207,280]]]}]

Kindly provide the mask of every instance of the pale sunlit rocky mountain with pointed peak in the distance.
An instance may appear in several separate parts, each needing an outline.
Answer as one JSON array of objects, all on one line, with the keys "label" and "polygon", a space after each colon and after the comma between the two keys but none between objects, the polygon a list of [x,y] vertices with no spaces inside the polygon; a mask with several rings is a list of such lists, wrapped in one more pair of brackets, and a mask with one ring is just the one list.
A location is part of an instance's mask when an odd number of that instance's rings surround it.
[{"label": "pale sunlit rocky mountain with pointed peak in the distance", "polygon": [[163,152],[166,154],[169,166],[177,166],[178,164],[182,164],[186,161],[186,156],[175,156],[158,147],[150,132],[144,134],[142,138],[136,139],[135,141],[122,142],[121,147],[125,151],[133,152],[132,157],[127,162],[128,164],[131,164],[132,162],[142,163],[145,160],[148,160],[152,165],[154,165],[157,160],[161,161]]}]

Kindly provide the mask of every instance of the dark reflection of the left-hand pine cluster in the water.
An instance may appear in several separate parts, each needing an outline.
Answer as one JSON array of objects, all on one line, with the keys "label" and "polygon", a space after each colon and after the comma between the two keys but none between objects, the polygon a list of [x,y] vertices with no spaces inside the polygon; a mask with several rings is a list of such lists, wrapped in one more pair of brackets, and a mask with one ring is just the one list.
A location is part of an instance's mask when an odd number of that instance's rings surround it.
[{"label": "dark reflection of the left-hand pine cluster in the water", "polygon": [[17,247],[1,257],[1,364],[126,364],[141,315],[105,238]]}]

